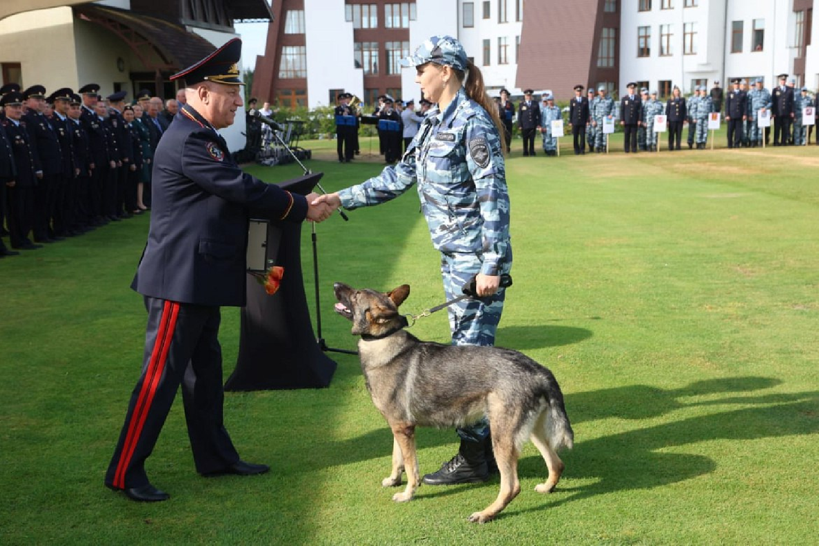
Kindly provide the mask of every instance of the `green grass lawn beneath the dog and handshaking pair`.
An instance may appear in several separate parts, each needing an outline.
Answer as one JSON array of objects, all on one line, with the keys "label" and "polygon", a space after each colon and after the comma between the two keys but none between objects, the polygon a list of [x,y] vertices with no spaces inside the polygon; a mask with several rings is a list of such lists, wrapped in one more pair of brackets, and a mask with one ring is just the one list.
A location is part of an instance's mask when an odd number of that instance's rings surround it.
[{"label": "green grass lawn beneath the dog and handshaking pair", "polygon": [[[306,144],[333,156],[335,142]],[[199,477],[178,399],[147,463],[170,501],[106,490],[143,350],[146,314],[129,289],[143,215],[0,260],[0,544],[817,544],[819,149],[574,157],[562,146],[561,158],[524,158],[514,142],[507,160],[514,287],[497,336],[566,395],[575,448],[553,494],[533,491],[545,466],[529,444],[523,491],[496,521],[466,518],[497,478],[392,503],[380,485],[391,434],[342,354],[328,389],[226,395],[234,443],[269,474]],[[328,191],[382,168],[309,166]],[[334,281],[409,283],[412,313],[443,296],[414,190],[349,215],[317,232],[324,337],[353,349]],[[303,243],[312,305],[309,228]],[[238,324],[223,309],[225,377]],[[412,331],[447,341],[446,314]],[[421,472],[455,440],[420,430]]]}]

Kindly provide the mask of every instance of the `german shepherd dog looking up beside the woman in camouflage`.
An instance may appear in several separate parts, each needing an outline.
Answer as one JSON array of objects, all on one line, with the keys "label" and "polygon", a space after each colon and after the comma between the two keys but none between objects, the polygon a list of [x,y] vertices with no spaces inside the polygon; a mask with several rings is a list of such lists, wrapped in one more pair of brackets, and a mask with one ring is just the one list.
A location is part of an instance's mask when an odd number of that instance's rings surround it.
[{"label": "german shepherd dog looking up beside the woman in camouflage", "polygon": [[409,285],[386,294],[340,282],[333,287],[336,312],[351,320],[354,336],[361,336],[367,390],[392,430],[392,473],[382,485],[400,485],[407,473],[406,489],[394,494],[394,501],[412,499],[419,486],[415,426],[463,426],[483,415],[489,418],[500,493],[469,521],[490,521],[520,493],[518,457],[527,439],[549,469],[535,490],[554,490],[563,473],[555,452],[571,448],[574,433],[552,372],[514,350],[419,341],[405,332],[407,319],[398,313]]}]

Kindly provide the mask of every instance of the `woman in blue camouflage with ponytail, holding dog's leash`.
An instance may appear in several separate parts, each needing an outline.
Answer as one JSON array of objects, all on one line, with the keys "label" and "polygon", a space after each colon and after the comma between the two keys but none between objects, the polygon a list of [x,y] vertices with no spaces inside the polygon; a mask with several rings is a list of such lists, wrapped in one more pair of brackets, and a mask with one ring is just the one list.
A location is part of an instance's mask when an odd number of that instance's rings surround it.
[{"label": "woman in blue camouflage with ponytail, holding dog's leash", "polygon": [[[441,252],[446,299],[460,296],[461,288],[475,275],[477,293],[483,296],[448,308],[452,343],[493,345],[505,299],[500,274],[509,273],[512,267],[512,247],[503,144],[491,110],[487,110],[491,102],[486,93],[478,92],[481,71],[450,36],[429,38],[402,64],[416,68],[416,81],[437,106],[428,111],[396,165],[314,202],[352,210],[390,201],[417,184],[432,245]],[[459,453],[438,472],[423,476],[424,483],[488,479],[491,440],[486,418],[459,428],[458,434]]]}]

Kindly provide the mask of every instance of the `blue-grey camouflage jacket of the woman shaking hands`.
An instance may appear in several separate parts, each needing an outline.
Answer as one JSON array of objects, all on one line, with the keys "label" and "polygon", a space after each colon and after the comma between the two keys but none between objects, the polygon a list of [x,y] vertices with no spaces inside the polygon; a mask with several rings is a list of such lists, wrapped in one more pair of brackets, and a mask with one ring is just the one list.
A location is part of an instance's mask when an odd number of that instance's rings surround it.
[{"label": "blue-grey camouflage jacket of the woman shaking hands", "polygon": [[500,274],[500,264],[512,260],[500,135],[463,88],[445,111],[428,111],[396,165],[339,196],[353,210],[390,201],[415,183],[432,245],[447,254],[479,255],[481,273]]}]

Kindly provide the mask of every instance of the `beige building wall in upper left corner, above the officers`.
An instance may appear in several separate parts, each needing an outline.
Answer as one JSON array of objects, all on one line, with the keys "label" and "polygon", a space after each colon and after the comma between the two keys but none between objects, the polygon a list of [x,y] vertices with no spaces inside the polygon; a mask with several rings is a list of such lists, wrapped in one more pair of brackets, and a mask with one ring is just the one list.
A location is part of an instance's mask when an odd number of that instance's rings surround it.
[{"label": "beige building wall in upper left corner, above the officers", "polygon": [[[28,11],[0,20],[0,62],[19,62],[20,85],[48,93],[76,88],[74,16],[70,7]],[[8,83],[8,82],[3,82]]]}]

